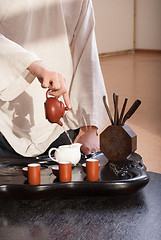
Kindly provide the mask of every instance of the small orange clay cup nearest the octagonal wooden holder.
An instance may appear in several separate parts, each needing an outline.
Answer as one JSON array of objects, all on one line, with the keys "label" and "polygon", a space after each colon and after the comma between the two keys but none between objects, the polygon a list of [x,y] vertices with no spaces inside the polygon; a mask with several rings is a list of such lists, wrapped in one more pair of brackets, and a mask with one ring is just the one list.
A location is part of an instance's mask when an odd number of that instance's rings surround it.
[{"label": "small orange clay cup nearest the octagonal wooden holder", "polygon": [[98,159],[87,159],[86,160],[86,175],[88,181],[98,181],[99,178],[99,160]]}]

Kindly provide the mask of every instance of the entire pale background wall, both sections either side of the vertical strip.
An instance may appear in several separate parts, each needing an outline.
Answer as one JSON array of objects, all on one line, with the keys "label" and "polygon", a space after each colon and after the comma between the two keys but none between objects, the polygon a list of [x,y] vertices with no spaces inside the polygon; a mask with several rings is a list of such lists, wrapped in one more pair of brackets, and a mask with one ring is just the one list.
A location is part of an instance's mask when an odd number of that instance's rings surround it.
[{"label": "entire pale background wall, both sections either side of the vertical strip", "polygon": [[[99,53],[133,49],[134,0],[93,0]],[[161,0],[136,0],[136,48],[161,50]]]}]

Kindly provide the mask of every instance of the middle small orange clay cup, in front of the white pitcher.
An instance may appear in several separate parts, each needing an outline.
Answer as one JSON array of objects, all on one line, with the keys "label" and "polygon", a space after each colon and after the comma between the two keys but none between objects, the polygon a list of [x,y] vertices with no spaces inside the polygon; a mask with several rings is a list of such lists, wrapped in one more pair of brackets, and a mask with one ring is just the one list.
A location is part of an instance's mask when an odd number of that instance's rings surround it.
[{"label": "middle small orange clay cup, in front of the white pitcher", "polygon": [[69,161],[59,162],[59,181],[70,182],[72,179],[72,164]]}]

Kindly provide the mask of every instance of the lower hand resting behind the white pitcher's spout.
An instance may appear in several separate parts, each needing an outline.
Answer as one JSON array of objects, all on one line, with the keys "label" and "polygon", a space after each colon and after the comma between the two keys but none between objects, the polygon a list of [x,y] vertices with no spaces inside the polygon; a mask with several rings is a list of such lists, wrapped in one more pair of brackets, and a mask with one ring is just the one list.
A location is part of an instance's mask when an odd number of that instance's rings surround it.
[{"label": "lower hand resting behind the white pitcher's spout", "polygon": [[85,155],[100,150],[97,128],[94,126],[81,127],[74,142],[82,143],[81,151]]}]

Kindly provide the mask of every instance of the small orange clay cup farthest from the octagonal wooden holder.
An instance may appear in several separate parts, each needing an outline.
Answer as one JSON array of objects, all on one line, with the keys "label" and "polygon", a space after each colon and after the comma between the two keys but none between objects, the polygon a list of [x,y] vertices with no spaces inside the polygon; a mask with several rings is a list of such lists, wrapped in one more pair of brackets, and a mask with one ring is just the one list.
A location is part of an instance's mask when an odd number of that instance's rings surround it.
[{"label": "small orange clay cup farthest from the octagonal wooden holder", "polygon": [[28,164],[28,182],[31,185],[40,184],[40,164],[39,163]]}]

